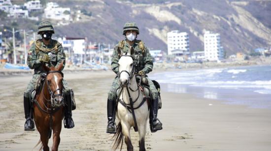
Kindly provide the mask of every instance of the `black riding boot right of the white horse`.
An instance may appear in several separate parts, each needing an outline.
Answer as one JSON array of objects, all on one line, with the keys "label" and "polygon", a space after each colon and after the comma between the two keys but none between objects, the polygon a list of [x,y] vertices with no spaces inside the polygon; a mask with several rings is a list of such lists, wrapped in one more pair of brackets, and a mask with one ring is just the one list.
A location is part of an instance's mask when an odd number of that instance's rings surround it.
[{"label": "black riding boot right of the white horse", "polygon": [[156,132],[157,130],[163,129],[162,123],[157,118],[158,114],[158,99],[152,101],[150,108],[150,128],[151,132]]}]

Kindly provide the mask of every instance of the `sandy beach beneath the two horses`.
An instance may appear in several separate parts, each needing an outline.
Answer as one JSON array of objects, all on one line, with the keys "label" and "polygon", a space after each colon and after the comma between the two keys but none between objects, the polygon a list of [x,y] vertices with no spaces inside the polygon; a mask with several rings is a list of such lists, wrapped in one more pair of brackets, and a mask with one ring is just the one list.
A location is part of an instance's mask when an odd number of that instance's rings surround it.
[{"label": "sandy beach beneath the two horses", "polygon": [[[112,135],[105,128],[107,92],[113,78],[111,71],[65,74],[77,108],[75,127],[62,129],[60,151],[111,150]],[[29,74],[0,76],[0,151],[31,151],[39,140],[37,130],[23,130],[23,93],[30,79]],[[271,151],[270,109],[229,105],[163,88],[161,97],[158,117],[163,130],[151,133],[147,128],[147,151]],[[131,135],[138,151],[138,134],[132,131]]]}]

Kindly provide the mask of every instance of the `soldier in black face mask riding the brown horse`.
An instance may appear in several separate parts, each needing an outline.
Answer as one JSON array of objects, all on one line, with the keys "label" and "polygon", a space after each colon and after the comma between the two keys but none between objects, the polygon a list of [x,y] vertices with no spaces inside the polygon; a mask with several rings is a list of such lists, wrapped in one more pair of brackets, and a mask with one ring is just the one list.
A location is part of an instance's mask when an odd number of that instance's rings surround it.
[{"label": "soldier in black face mask riding the brown horse", "polygon": [[[46,73],[43,70],[42,64],[47,64],[49,67],[54,66],[58,67],[61,62],[63,62],[63,68],[65,67],[65,53],[61,43],[56,40],[51,39],[54,28],[52,24],[48,21],[43,21],[38,25],[37,34],[41,35],[41,39],[35,41],[27,57],[27,64],[30,69],[34,69],[34,75],[29,82],[27,89],[24,93],[24,109],[25,109],[25,131],[34,130],[34,121],[31,117],[32,107],[30,102],[30,95],[32,90],[34,90],[37,78],[41,74]],[[63,69],[62,69],[63,70]],[[64,88],[64,98],[65,98],[65,128],[74,127],[73,120],[71,118],[71,98],[73,97],[72,90],[68,87],[68,83],[63,79],[63,88]]]}]

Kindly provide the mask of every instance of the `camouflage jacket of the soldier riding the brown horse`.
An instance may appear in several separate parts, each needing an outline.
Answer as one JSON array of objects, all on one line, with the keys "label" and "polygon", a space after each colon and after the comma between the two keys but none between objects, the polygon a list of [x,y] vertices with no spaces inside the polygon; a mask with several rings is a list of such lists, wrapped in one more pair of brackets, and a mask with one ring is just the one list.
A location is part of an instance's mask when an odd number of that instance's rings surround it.
[{"label": "camouflage jacket of the soldier riding the brown horse", "polygon": [[63,61],[64,69],[66,56],[61,43],[51,39],[50,44],[45,45],[41,39],[38,39],[32,44],[27,56],[27,64],[30,69],[34,69],[34,74],[46,73],[38,58],[48,53],[50,53],[50,63],[47,65],[57,67]]}]

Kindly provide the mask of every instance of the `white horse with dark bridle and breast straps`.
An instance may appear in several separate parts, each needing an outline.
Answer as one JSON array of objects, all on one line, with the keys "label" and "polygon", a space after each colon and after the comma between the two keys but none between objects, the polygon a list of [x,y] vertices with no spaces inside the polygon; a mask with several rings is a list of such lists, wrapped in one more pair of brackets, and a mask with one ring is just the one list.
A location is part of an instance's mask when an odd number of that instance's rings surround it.
[{"label": "white horse with dark bridle and breast straps", "polygon": [[[136,83],[133,54],[134,49],[132,48],[131,54],[126,53],[125,55],[121,55],[118,62],[118,78],[121,88],[119,89],[116,111],[119,123],[117,125],[117,132],[113,136],[114,150],[116,150],[120,144],[122,148],[123,137],[125,137],[124,140],[127,145],[127,151],[134,151],[130,136],[130,129],[132,126],[134,126],[135,131],[138,129],[139,133],[139,151],[145,151],[144,139],[146,134],[147,120],[149,118],[149,110],[147,101],[143,97],[143,94]],[[133,113],[135,116],[133,116]]]}]

